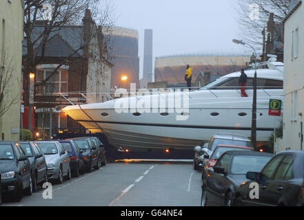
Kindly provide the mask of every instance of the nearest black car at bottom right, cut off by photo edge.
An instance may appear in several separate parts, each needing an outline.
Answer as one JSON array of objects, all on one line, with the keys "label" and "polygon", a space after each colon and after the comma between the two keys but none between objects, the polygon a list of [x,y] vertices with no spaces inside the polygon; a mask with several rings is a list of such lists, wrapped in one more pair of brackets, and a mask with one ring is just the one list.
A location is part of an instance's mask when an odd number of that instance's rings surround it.
[{"label": "nearest black car at bottom right, cut off by photo edge", "polygon": [[[276,154],[260,173],[248,172],[247,181],[237,189],[239,206],[304,206],[304,151]],[[250,184],[259,184],[259,197],[250,196]]]}]

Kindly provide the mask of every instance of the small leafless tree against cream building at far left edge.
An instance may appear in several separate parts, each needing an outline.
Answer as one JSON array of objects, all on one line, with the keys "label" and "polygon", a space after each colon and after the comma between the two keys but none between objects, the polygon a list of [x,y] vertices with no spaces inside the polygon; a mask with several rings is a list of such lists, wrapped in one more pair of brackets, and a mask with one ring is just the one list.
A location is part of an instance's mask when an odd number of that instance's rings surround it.
[{"label": "small leafless tree against cream building at far left edge", "polygon": [[1,58],[0,64],[0,117],[4,115],[12,104],[17,104],[20,102],[19,94],[14,96],[12,94],[10,87],[12,87],[12,80],[15,77],[14,74],[16,73],[14,60],[9,58],[7,55],[3,55]]}]

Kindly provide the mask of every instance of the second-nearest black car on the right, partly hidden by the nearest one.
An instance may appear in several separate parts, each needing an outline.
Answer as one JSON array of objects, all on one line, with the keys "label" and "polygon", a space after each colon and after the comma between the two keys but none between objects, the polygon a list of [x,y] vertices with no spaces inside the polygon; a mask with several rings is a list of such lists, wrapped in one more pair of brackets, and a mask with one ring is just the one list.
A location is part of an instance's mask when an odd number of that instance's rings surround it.
[{"label": "second-nearest black car on the right, partly hidden by the nearest one", "polygon": [[203,177],[202,206],[232,206],[236,188],[248,181],[248,171],[261,171],[272,158],[271,153],[227,151]]}]

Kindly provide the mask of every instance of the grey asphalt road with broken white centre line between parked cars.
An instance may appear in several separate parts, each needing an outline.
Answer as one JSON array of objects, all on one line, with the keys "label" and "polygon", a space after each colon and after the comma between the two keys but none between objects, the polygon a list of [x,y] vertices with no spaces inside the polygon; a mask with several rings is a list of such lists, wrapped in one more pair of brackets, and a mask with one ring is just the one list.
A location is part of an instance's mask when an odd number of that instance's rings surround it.
[{"label": "grey asphalt road with broken white centre line between parked cars", "polygon": [[201,173],[190,162],[113,162],[2,206],[200,206]]}]

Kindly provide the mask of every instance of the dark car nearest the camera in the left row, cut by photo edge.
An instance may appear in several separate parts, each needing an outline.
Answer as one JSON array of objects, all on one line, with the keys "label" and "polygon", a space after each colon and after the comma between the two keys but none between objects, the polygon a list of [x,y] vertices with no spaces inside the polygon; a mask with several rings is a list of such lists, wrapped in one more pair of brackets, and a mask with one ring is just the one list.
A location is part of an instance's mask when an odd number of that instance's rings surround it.
[{"label": "dark car nearest the camera in the left row, cut by photo edge", "polygon": [[19,144],[0,142],[1,192],[21,201],[23,191],[32,195],[30,160]]}]

